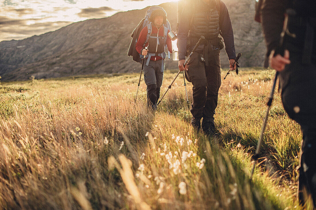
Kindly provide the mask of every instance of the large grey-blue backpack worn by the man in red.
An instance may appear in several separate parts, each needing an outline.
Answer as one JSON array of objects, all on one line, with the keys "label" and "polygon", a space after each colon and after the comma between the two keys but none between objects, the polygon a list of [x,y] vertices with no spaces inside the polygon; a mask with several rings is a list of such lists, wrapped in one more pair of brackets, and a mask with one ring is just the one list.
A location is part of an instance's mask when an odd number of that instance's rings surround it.
[{"label": "large grey-blue backpack worn by the man in red", "polygon": [[[138,37],[139,37],[139,34],[140,32],[142,31],[142,29],[144,27],[148,27],[148,34],[147,34],[147,38],[146,38],[146,41],[145,41],[145,44],[147,43],[149,37],[151,36],[151,21],[149,21],[149,18],[151,16],[151,14],[153,13],[153,11],[157,10],[157,9],[160,9],[162,10],[165,15],[167,15],[166,11],[162,8],[162,7],[159,7],[159,6],[152,6],[150,7],[147,11],[146,11],[146,15],[145,15],[145,18],[143,18],[143,20],[141,20],[138,24],[138,26],[134,29],[133,33],[131,34],[131,37],[133,38],[132,41],[131,41],[131,44],[130,44],[130,47],[128,49],[128,52],[127,52],[127,55],[128,56],[132,56],[133,57],[133,61],[136,61],[136,62],[140,62],[141,61],[141,56],[140,54],[137,52],[136,50],[136,43],[138,41]],[[167,20],[165,24],[163,24],[163,27],[165,27],[165,34],[164,36],[166,36],[167,38],[167,30],[171,31],[171,27],[170,27],[170,23],[169,21]],[[165,39],[166,40],[166,39]],[[166,45],[166,43],[165,43]],[[166,48],[166,47],[165,47]],[[165,54],[166,55],[166,54]],[[168,51],[168,57],[170,57],[170,52]],[[164,57],[165,58],[165,57]],[[148,59],[149,60],[149,59]]]}]

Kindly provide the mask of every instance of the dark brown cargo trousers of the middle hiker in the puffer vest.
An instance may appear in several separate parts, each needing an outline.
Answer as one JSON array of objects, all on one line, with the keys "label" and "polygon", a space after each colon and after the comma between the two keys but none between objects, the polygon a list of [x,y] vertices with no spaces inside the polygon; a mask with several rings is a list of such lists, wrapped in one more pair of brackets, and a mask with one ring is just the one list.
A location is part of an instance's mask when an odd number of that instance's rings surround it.
[{"label": "dark brown cargo trousers of the middle hiker in the puffer vest", "polygon": [[[193,53],[188,61],[186,79],[192,83],[191,114],[194,119],[202,120],[202,129],[215,128],[214,115],[217,107],[218,90],[221,86],[220,50],[204,55]],[[193,120],[192,120],[193,122]],[[193,125],[193,124],[192,124]],[[194,125],[193,125],[194,126]]]}]

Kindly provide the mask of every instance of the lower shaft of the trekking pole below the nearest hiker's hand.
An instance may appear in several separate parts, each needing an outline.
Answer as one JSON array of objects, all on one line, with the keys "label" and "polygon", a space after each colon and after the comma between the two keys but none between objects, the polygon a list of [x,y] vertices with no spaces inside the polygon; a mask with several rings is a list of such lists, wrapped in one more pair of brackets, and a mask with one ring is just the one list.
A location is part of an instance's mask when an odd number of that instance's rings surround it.
[{"label": "lower shaft of the trekking pole below the nearest hiker's hand", "polygon": [[267,103],[267,105],[268,105],[268,107],[267,107],[267,112],[266,112],[266,114],[265,114],[264,122],[263,122],[263,125],[262,125],[261,134],[260,134],[260,139],[259,139],[259,141],[258,141],[256,154],[252,156],[252,158],[253,158],[255,161],[253,162],[253,167],[252,167],[252,172],[251,172],[250,179],[252,179],[253,171],[255,170],[256,162],[257,162],[257,160],[258,160],[258,158],[259,158],[260,147],[261,147],[262,139],[263,139],[263,133],[264,133],[265,126],[267,125],[267,119],[268,119],[268,116],[269,116],[269,110],[270,110],[270,107],[271,107],[271,104],[272,104],[274,89],[275,89],[275,87],[276,87],[276,80],[277,80],[277,76],[278,76],[278,75],[279,75],[279,72],[277,71],[277,72],[276,72],[276,75],[275,75],[275,77],[274,77],[273,86],[272,86],[272,89],[271,89],[269,101],[268,101],[268,103]]}]

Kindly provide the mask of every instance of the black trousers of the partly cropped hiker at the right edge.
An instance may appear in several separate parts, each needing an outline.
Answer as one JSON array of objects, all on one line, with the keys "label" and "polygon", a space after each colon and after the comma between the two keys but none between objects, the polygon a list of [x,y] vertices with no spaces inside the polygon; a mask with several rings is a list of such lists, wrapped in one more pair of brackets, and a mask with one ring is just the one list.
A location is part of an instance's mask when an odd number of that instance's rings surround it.
[{"label": "black trousers of the partly cropped hiker at the right edge", "polygon": [[306,190],[316,207],[316,59],[302,64],[301,54],[290,51],[291,64],[280,73],[281,96],[285,111],[303,133],[298,197],[303,204]]}]

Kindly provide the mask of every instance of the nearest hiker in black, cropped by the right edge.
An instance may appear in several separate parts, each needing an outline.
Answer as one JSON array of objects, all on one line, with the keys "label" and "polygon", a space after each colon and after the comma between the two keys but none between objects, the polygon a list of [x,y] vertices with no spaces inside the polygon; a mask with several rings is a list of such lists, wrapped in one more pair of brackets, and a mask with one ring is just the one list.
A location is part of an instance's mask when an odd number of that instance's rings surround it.
[{"label": "nearest hiker in black, cropped by the right edge", "polygon": [[[295,4],[294,4],[295,3]],[[265,0],[261,9],[264,38],[270,66],[280,72],[281,98],[289,117],[301,125],[303,142],[299,167],[298,197],[305,202],[305,193],[312,196],[316,207],[316,1]],[[289,32],[285,34],[282,52],[275,53],[280,41],[286,9]]]}]

